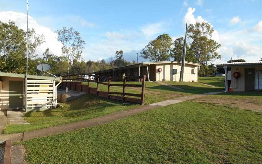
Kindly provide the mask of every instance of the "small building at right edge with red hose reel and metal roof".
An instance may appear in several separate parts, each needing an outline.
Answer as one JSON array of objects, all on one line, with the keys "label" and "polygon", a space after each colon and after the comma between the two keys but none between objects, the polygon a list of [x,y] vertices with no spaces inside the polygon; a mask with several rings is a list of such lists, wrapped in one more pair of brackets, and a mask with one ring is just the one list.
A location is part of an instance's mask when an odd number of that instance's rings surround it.
[{"label": "small building at right edge with red hose reel and metal roof", "polygon": [[262,90],[262,61],[223,63],[216,66],[225,70],[226,92]]}]

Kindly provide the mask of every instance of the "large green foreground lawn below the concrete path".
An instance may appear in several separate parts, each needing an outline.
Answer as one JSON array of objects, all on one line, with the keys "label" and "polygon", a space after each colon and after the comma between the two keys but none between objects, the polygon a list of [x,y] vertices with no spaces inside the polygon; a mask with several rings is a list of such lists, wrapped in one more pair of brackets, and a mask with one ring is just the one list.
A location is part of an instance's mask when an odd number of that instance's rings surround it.
[{"label": "large green foreground lawn below the concrete path", "polygon": [[186,101],[22,142],[28,163],[262,163],[262,115]]}]

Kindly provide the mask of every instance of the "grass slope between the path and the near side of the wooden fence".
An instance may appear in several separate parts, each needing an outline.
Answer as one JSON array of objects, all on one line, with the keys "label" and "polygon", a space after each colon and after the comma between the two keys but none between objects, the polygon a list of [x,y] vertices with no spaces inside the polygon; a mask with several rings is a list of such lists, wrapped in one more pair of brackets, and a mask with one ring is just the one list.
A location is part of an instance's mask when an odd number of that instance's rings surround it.
[{"label": "grass slope between the path and the near side of the wooden fence", "polygon": [[75,100],[69,101],[69,103],[61,104],[62,107],[54,110],[25,113],[25,121],[30,124],[8,124],[4,133],[20,133],[87,120],[138,106],[122,104],[120,101],[106,100],[91,94],[84,94]]}]

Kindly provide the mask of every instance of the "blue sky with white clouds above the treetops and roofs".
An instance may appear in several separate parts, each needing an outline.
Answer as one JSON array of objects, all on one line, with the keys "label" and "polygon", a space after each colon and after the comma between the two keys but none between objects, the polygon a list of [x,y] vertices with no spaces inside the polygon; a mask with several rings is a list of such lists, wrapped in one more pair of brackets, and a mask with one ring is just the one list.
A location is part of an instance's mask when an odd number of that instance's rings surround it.
[{"label": "blue sky with white clouds above the treetops and roofs", "polygon": [[[0,0],[0,21],[15,21],[26,30],[26,18],[26,0]],[[221,44],[222,58],[215,64],[231,57],[262,57],[262,0],[29,0],[29,28],[45,36],[39,56],[45,48],[60,56],[62,45],[55,31],[73,27],[86,42],[84,60],[109,60],[123,50],[125,59],[132,61],[160,34],[175,40],[185,35],[186,23],[203,21],[213,26],[212,39]]]}]

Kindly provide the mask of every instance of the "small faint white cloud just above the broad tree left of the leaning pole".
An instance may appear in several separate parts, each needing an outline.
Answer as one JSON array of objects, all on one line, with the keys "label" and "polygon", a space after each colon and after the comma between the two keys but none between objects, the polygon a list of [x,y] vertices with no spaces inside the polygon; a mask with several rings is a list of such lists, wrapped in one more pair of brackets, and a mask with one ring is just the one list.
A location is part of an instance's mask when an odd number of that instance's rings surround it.
[{"label": "small faint white cloud just above the broad tree left of the leaning pole", "polygon": [[143,26],[140,30],[147,36],[152,36],[164,32],[166,26],[164,23],[155,23]]}]

